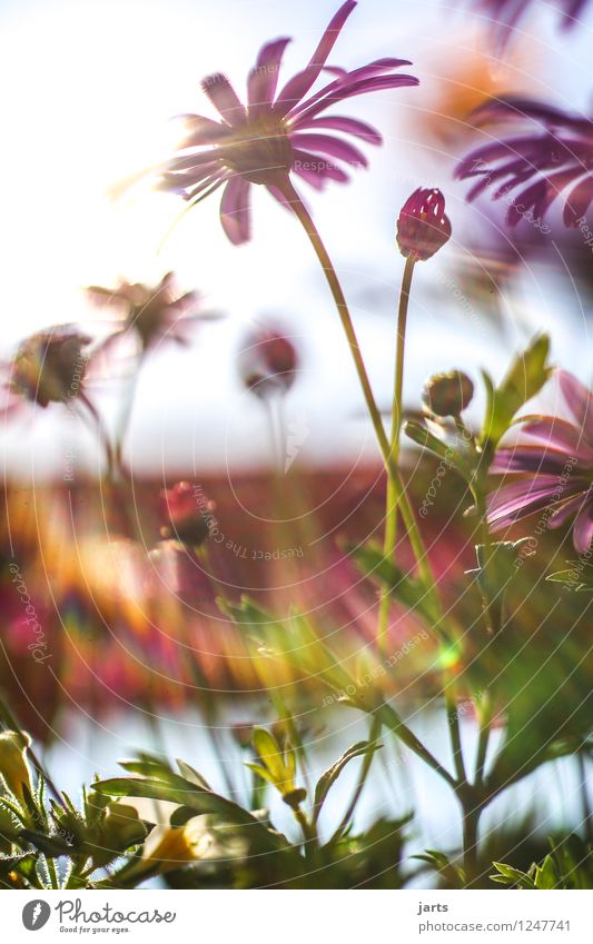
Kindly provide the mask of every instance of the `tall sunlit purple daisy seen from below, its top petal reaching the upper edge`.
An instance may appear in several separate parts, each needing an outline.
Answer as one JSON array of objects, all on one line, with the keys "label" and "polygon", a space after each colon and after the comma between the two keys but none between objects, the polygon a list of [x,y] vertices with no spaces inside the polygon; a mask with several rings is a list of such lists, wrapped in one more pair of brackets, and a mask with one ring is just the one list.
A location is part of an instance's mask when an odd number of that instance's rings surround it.
[{"label": "tall sunlit purple daisy seen from below, its top petal reaching the upper edge", "polygon": [[[339,8],[308,64],[279,91],[281,58],[289,42],[285,38],[259,51],[247,79],[247,105],[226,76],[217,72],[204,80],[202,89],[221,120],[184,116],[188,137],[162,167],[159,186],[196,203],[224,185],[220,219],[231,242],[249,239],[253,183],[263,183],[289,207],[289,173],[320,190],[329,180],[348,180],[344,166],[366,167],[365,155],[343,136],[379,145],[380,135],[358,119],[324,116],[328,106],[365,92],[418,85],[413,76],[393,74],[394,69],[411,64],[405,59],[377,59],[353,71],[326,64],[355,6],[355,0],[347,0]],[[330,81],[312,95],[323,71],[329,72]]]}]

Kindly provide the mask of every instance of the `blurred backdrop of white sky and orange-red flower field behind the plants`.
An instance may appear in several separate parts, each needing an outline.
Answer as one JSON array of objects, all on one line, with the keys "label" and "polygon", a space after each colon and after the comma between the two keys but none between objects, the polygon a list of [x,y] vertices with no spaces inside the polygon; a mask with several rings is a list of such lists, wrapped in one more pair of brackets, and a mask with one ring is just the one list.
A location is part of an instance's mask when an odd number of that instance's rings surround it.
[{"label": "blurred backdrop of white sky and orange-red flower field behind the plants", "polygon": [[[204,308],[220,316],[199,326],[190,347],[162,342],[145,359],[125,446],[136,483],[131,511],[98,484],[96,438],[80,424],[75,430],[59,406],[3,423],[6,555],[10,548],[45,617],[56,667],[48,673],[32,664],[16,610],[4,686],[16,693],[29,728],[52,742],[66,787],[76,789],[93,769],[112,773],[117,757],[138,744],[166,743],[220,788],[227,758],[234,772],[241,769],[229,725],[265,719],[269,706],[261,677],[216,606],[220,588],[236,596],[247,590],[270,607],[306,606],[354,649],[372,638],[375,592],[353,572],[344,547],[380,536],[380,465],[309,245],[264,191],[255,196],[254,238],[239,249],[218,225],[217,198],[180,219],[165,240],[179,216],[176,198],[140,187],[113,199],[122,179],[158,162],[178,140],[172,116],[211,113],[200,90],[205,76],[225,71],[243,91],[259,47],[277,36],[294,37],[285,58],[291,74],[336,7],[335,0],[4,0],[0,8],[1,356],[10,359],[21,338],[55,324],[107,329],[109,315],[89,301],[89,285],[156,285],[175,271],[180,289],[197,291]],[[591,256],[556,225],[554,212],[551,236],[523,222],[511,241],[504,207],[485,200],[468,206],[467,186],[453,172],[459,157],[484,140],[468,116],[493,95],[527,93],[587,115],[592,36],[593,16],[561,34],[557,10],[544,2],[531,4],[502,57],[477,3],[360,0],[348,21],[333,64],[353,68],[397,56],[411,59],[409,71],[421,79],[417,89],[349,103],[348,112],[378,127],[385,143],[366,149],[370,167],[353,175],[348,187],[307,193],[386,411],[403,270],[395,220],[419,186],[444,191],[453,238],[433,262],[416,267],[407,408],[419,407],[422,385],[437,370],[458,368],[476,379],[485,366],[500,376],[512,352],[540,330],[551,332],[552,359],[591,381]],[[269,325],[290,339],[298,357],[295,381],[271,417],[239,368],[245,338]],[[93,403],[113,429],[129,394],[126,364],[95,382]],[[477,396],[470,420],[482,406]],[[411,451],[408,474],[422,495],[432,470],[419,470],[417,461]],[[63,489],[67,463],[75,485]],[[179,478],[215,504],[224,540],[208,562],[162,540],[158,494]],[[427,527],[439,574],[455,595],[473,563],[471,533],[461,519],[466,496],[452,481],[442,494]],[[446,547],[439,546],[445,525]],[[567,541],[554,546],[560,562],[570,553]],[[10,614],[11,587],[2,593]],[[409,614],[395,613],[394,644],[416,632]],[[191,670],[180,649],[191,652]],[[434,690],[433,657],[429,645],[419,646],[406,658],[397,688],[409,699],[412,723],[428,732],[438,754],[446,751],[442,718],[431,708],[421,712],[415,700],[417,690],[423,697]],[[419,689],[413,688],[418,679]],[[223,741],[214,745],[207,690],[227,699]],[[237,692],[250,693],[250,700]],[[315,697],[305,696],[303,716],[320,768],[329,749],[336,753],[364,731],[355,713],[340,714],[336,724],[319,719]],[[470,708],[462,727],[472,749]],[[332,736],[325,733],[330,729]],[[416,847],[458,842],[432,776],[421,777],[414,763],[378,769],[383,779],[365,798],[363,817],[395,797],[399,813],[423,811],[425,833],[416,833]],[[550,776],[563,808],[541,795]],[[508,794],[506,806],[494,804],[492,822],[537,814],[542,834],[579,822],[582,794],[571,763],[537,777]]]}]

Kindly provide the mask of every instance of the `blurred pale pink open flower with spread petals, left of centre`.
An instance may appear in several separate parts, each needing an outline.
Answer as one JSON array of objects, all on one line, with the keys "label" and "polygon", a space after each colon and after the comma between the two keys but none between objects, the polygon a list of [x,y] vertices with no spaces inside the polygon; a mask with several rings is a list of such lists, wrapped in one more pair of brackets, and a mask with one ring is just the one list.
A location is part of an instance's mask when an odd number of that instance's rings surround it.
[{"label": "blurred pale pink open flower with spread petals, left of centre", "polygon": [[172,272],[167,272],[155,288],[121,282],[117,288],[89,286],[87,291],[90,298],[121,310],[121,328],[108,337],[102,349],[126,331],[138,337],[142,351],[162,340],[185,345],[196,320],[205,317],[187,316],[188,309],[198,302],[198,296],[194,291],[177,294]]}]

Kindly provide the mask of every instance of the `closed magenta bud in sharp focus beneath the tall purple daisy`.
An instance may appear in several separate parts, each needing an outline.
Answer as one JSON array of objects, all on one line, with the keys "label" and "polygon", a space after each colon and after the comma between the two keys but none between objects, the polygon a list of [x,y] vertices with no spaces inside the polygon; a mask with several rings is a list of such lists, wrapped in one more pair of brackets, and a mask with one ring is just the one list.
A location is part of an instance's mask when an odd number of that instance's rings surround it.
[{"label": "closed magenta bud in sharp focus beneath the tall purple daisy", "polygon": [[397,220],[397,245],[402,256],[426,261],[451,238],[451,222],[445,215],[441,190],[418,187],[408,197]]}]

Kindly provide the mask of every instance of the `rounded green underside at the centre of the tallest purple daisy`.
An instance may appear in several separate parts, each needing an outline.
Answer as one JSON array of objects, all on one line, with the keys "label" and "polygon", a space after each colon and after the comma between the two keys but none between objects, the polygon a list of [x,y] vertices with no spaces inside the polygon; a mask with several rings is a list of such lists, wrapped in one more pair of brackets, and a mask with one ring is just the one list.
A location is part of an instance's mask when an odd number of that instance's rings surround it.
[{"label": "rounded green underside at the centre of the tallest purple daisy", "polygon": [[247,121],[236,140],[220,148],[224,163],[251,183],[273,183],[293,166],[293,147],[280,121]]}]

